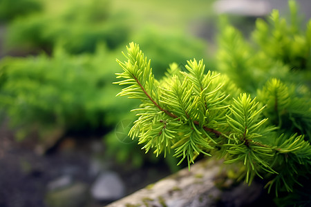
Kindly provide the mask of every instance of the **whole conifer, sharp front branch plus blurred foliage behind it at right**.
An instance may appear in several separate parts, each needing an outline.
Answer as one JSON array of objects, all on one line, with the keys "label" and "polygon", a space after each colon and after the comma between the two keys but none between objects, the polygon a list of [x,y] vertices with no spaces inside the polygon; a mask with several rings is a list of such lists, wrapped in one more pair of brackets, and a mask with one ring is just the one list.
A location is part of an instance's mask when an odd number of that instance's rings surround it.
[{"label": "whole conifer, sharp front branch plus blurred foliage behind it at right", "polygon": [[138,119],[129,135],[146,151],[173,151],[189,166],[199,154],[240,162],[249,184],[258,176],[276,196],[291,192],[305,202],[311,167],[311,27],[310,21],[299,26],[296,4],[289,4],[290,24],[274,10],[267,23],[257,20],[250,41],[221,23],[216,69],[222,75],[194,59],[187,71],[171,64],[158,81],[150,61],[131,43],[128,61],[119,61],[124,72],[117,82],[129,85],[119,95],[142,101],[133,110]]}]

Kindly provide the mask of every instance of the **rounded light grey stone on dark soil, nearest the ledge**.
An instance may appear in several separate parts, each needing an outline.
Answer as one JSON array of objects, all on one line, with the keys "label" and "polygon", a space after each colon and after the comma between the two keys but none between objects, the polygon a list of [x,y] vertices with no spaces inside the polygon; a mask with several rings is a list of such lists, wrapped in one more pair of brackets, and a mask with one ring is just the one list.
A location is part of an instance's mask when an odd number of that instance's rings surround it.
[{"label": "rounded light grey stone on dark soil, nearest the ledge", "polygon": [[125,186],[115,172],[102,172],[91,187],[91,195],[97,201],[115,201],[124,197]]}]

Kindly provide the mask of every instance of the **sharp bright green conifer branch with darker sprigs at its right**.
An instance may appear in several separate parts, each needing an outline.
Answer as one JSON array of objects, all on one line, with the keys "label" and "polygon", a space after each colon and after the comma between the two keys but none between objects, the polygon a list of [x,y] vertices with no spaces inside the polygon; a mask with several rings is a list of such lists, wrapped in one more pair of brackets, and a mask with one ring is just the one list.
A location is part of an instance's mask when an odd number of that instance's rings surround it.
[{"label": "sharp bright green conifer branch with darker sprigs at its right", "polygon": [[[310,175],[308,88],[271,79],[257,101],[247,93],[237,95],[237,87],[223,75],[206,71],[202,60],[188,61],[187,72],[173,63],[158,81],[151,60],[137,44],[130,43],[125,57],[124,62],[118,60],[124,72],[117,73],[122,80],[116,83],[129,86],[118,95],[142,101],[133,110],[138,119],[129,135],[138,137],[146,152],[165,156],[173,150],[189,167],[199,154],[222,155],[229,164],[241,161],[247,183],[257,175],[266,179],[269,189],[275,187],[276,195],[292,191],[301,177]],[[285,121],[295,124],[286,129]]]}]

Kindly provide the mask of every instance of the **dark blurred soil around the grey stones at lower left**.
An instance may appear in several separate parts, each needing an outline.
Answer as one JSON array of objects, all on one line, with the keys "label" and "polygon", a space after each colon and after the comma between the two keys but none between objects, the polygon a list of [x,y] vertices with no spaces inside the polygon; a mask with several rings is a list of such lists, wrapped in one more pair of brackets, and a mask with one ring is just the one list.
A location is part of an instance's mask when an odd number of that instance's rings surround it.
[{"label": "dark blurred soil around the grey stones at lower left", "polygon": [[[0,127],[0,206],[1,207],[41,207],[47,206],[45,197],[48,183],[70,175],[74,181],[91,187],[96,176],[90,175],[94,152],[91,144],[102,145],[102,137],[70,138],[70,147],[60,144],[48,155],[39,155],[35,150],[35,142],[15,141],[14,132],[6,123]],[[66,139],[64,139],[66,143]],[[67,140],[68,143],[68,140]],[[104,156],[104,148],[97,155]],[[102,164],[104,170],[113,170],[122,178],[126,186],[126,194],[169,175],[169,169],[162,165],[145,164],[135,169],[129,165],[120,165],[107,160]],[[122,167],[123,166],[123,167]],[[126,168],[129,167],[129,168]],[[98,202],[88,195],[86,206],[95,207],[108,204],[109,201]]]}]

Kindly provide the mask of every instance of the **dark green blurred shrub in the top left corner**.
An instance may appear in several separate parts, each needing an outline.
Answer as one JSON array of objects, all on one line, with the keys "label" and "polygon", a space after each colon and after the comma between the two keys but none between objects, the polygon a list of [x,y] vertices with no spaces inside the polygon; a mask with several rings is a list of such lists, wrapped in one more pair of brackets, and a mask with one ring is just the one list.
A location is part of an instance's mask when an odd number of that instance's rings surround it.
[{"label": "dark green blurred shrub in the top left corner", "polygon": [[41,9],[42,3],[39,0],[1,0],[0,21],[11,21]]}]

